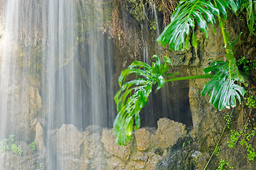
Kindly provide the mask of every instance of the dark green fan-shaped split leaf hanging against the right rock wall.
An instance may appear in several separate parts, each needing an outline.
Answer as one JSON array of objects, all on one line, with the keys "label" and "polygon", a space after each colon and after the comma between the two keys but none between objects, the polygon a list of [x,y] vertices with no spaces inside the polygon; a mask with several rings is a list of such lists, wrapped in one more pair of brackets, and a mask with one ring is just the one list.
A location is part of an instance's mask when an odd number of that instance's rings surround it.
[{"label": "dark green fan-shaped split leaf hanging against the right rock wall", "polygon": [[[202,96],[210,95],[210,103],[219,110],[236,106],[236,101],[241,103],[240,96],[244,96],[245,89],[236,81],[243,82],[242,77],[238,73],[238,67],[235,60],[230,61],[215,61],[210,67],[203,70],[206,74],[216,72],[203,88]],[[210,94],[210,91],[212,93]]]}]

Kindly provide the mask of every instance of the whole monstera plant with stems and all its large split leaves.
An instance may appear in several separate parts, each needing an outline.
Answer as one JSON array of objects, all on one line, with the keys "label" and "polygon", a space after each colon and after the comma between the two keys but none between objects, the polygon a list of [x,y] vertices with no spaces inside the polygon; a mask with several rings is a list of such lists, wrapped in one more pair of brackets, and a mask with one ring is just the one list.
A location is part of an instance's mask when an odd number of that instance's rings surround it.
[{"label": "whole monstera plant with stems and all its large split leaves", "polygon": [[[157,41],[164,47],[169,45],[170,50],[188,49],[190,42],[193,47],[197,47],[194,32],[196,24],[208,38],[208,25],[213,26],[213,31],[215,31],[215,19],[217,18],[222,30],[226,54],[223,60],[215,60],[210,67],[204,69],[205,75],[176,77],[177,73],[169,73],[169,66],[172,66],[169,57],[164,57],[164,62],[161,63],[156,55],[153,57],[155,62],[152,62],[151,66],[144,62],[134,61],[122,71],[119,76],[120,90],[114,96],[118,114],[113,126],[119,145],[125,145],[132,137],[133,128],[135,130],[139,128],[139,112],[145,106],[154,84],[157,84],[156,91],[158,91],[167,81],[211,78],[201,94],[202,96],[209,95],[210,103],[216,109],[234,107],[237,101],[241,102],[245,89],[236,82],[244,82],[244,79],[234,57],[234,45],[238,42],[238,38],[232,42],[229,33],[225,30],[224,21],[229,9],[234,13],[238,10],[247,13],[247,25],[250,32],[254,34],[255,1],[213,0],[212,3],[206,0],[181,0],[171,16],[171,23],[157,38]],[[137,78],[125,81],[130,74],[136,74]]]}]

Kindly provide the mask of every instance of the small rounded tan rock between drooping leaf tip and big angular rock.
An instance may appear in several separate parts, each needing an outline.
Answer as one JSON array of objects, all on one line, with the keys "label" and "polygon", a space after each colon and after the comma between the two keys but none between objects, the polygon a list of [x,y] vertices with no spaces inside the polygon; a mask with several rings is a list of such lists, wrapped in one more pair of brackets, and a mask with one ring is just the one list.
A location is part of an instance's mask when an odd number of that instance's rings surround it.
[{"label": "small rounded tan rock between drooping leaf tip and big angular rock", "polygon": [[149,130],[146,130],[145,128],[141,128],[139,130],[136,130],[134,135],[135,135],[138,150],[144,151],[146,149],[149,149],[151,145],[151,137],[153,136],[153,134],[151,134]]}]

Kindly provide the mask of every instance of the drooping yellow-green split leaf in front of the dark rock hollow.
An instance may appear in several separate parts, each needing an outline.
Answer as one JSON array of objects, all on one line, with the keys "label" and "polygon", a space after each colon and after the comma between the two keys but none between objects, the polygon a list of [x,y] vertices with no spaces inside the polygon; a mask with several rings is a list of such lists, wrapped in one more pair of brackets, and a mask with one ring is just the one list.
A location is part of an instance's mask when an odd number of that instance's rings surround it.
[{"label": "drooping yellow-green split leaf in front of the dark rock hollow", "polygon": [[[118,81],[121,88],[114,96],[114,101],[117,104],[117,117],[114,119],[113,125],[119,145],[125,145],[131,139],[134,122],[135,130],[140,127],[139,112],[146,105],[152,86],[157,83],[156,91],[158,91],[166,82],[164,76],[169,76],[167,74],[169,64],[171,64],[169,57],[164,57],[164,63],[161,63],[160,58],[156,55],[152,58],[156,60],[156,62],[152,62],[152,66],[134,61],[119,76]],[[136,74],[137,79],[125,81],[130,74]]]}]

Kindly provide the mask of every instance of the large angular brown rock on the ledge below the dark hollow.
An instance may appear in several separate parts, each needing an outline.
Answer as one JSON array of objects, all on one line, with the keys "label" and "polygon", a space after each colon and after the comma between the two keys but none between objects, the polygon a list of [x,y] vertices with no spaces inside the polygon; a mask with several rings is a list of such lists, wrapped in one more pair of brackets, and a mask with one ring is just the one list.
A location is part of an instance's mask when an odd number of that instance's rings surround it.
[{"label": "large angular brown rock on the ledge below the dark hollow", "polygon": [[161,118],[157,122],[158,128],[156,130],[156,136],[154,142],[156,147],[171,147],[179,138],[185,137],[186,126],[182,123],[176,123],[174,120],[167,118]]}]

